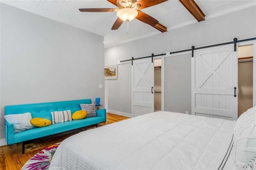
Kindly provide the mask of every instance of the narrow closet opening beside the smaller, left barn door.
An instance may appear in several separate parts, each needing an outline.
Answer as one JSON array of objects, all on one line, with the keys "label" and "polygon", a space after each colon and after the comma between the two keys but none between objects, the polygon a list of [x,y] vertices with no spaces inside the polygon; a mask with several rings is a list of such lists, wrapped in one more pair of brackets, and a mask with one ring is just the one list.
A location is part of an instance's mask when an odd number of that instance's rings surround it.
[{"label": "narrow closet opening beside the smaller, left barn door", "polygon": [[154,59],[154,111],[161,111],[161,62],[161,59]]}]

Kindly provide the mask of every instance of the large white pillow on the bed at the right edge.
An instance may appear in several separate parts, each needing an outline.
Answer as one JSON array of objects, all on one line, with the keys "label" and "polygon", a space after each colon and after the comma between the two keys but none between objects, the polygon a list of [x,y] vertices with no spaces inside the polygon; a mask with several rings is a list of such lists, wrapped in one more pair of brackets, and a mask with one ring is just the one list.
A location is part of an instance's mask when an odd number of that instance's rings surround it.
[{"label": "large white pillow on the bed at the right edge", "polygon": [[256,168],[256,107],[243,113],[234,128],[235,164],[239,169]]}]

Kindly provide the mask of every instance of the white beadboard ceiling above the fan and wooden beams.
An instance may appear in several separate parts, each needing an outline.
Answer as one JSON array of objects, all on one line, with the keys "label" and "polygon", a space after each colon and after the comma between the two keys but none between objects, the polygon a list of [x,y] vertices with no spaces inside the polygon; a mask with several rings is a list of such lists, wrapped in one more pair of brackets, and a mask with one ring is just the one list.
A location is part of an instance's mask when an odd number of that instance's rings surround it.
[{"label": "white beadboard ceiling above the fan and wooden beams", "polygon": [[[256,5],[256,0],[195,0],[207,19]],[[130,42],[155,34],[164,34],[139,20],[126,23],[118,30],[111,30],[117,16],[116,12],[80,12],[79,8],[116,8],[106,0],[1,0],[0,2],[26,10],[52,20],[104,36],[105,47]],[[175,28],[196,23],[196,19],[178,0],[168,0],[162,4],[142,9],[156,18],[170,31]],[[204,21],[203,21],[204,22]]]}]

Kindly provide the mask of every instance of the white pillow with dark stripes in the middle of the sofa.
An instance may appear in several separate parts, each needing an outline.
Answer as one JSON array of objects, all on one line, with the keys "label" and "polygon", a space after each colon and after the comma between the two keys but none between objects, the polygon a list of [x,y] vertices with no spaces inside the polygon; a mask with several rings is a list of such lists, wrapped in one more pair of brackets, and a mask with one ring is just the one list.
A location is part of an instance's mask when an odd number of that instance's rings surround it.
[{"label": "white pillow with dark stripes in the middle of the sofa", "polygon": [[55,111],[52,112],[52,124],[72,121],[71,111]]}]

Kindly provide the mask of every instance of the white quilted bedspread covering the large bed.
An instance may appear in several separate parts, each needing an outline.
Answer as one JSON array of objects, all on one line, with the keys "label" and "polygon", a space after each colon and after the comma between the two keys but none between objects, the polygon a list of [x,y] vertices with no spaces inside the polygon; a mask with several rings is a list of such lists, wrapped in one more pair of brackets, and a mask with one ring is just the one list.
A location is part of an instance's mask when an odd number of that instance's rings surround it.
[{"label": "white quilted bedspread covering the large bed", "polygon": [[217,170],[234,125],[235,121],[182,113],[149,113],[67,138],[50,169]]}]

